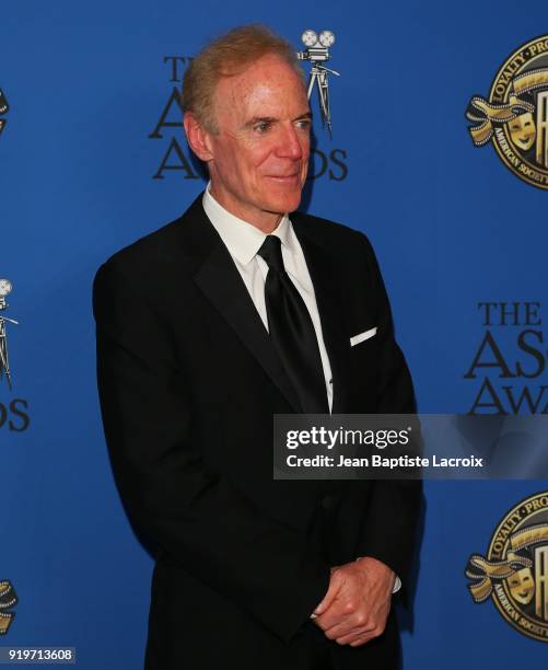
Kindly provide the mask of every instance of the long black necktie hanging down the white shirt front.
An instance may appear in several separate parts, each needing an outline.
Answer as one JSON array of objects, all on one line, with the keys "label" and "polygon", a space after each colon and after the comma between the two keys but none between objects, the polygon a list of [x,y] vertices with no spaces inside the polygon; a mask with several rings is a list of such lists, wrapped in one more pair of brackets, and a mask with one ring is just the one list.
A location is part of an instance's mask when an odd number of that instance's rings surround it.
[{"label": "long black necktie hanging down the white shirt front", "polygon": [[316,332],[304,300],[283,267],[280,239],[267,235],[257,252],[268,265],[265,301],[268,331],[305,414],[328,414]]}]

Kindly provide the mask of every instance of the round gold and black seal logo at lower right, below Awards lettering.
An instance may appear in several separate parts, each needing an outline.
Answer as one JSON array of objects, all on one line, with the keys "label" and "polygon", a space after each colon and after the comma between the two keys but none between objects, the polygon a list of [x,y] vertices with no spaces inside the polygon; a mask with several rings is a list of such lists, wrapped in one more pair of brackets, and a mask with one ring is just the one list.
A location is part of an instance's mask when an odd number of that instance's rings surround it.
[{"label": "round gold and black seal logo at lower right, below Awards lettering", "polygon": [[508,512],[487,556],[470,556],[466,576],[475,602],[491,597],[514,628],[548,643],[548,492]]}]

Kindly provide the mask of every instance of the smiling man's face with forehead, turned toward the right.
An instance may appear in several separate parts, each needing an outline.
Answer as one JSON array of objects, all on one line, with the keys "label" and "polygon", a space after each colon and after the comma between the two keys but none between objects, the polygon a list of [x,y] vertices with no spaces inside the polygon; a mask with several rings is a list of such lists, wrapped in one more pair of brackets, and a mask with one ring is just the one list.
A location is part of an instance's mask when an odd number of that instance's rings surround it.
[{"label": "smiling man's face with forehead, turned toward the right", "polygon": [[311,116],[302,80],[279,56],[220,80],[218,135],[208,134],[211,190],[231,213],[269,232],[301,201]]}]

